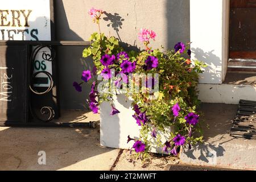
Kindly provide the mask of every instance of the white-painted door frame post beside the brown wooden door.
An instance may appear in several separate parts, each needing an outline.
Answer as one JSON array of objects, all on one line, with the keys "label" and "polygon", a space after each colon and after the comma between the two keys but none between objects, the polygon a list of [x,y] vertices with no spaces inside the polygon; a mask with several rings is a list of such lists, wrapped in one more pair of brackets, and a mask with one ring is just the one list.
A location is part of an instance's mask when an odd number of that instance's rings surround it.
[{"label": "white-painted door frame post beside the brown wooden door", "polygon": [[229,0],[191,0],[192,59],[208,67],[201,83],[221,84],[228,63]]}]

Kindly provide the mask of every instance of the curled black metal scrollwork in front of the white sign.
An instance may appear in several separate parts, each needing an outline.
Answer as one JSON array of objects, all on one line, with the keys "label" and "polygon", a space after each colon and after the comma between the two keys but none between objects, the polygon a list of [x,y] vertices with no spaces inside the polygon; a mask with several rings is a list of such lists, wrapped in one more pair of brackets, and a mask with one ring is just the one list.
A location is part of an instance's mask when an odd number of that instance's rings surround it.
[{"label": "curled black metal scrollwork in front of the white sign", "polygon": [[[35,59],[36,56],[38,55],[39,51],[42,50],[43,48],[48,48],[49,51],[51,52],[51,54],[43,52],[42,53],[42,59],[45,61],[54,61],[55,57],[56,57],[56,52],[54,51],[54,49],[51,46],[37,46],[34,48],[34,50],[31,53],[31,58],[30,58],[30,63],[31,63],[31,72],[34,72],[34,63],[35,63]],[[48,77],[50,84],[47,87],[46,90],[41,90],[38,91],[35,86],[34,86],[34,80],[36,78],[36,76],[38,76],[39,74],[44,74]],[[33,73],[30,79],[30,90],[32,93],[38,95],[38,96],[42,96],[44,94],[47,94],[48,92],[50,92],[53,88],[53,77],[51,75],[51,73],[47,72],[47,71],[39,71],[36,73]],[[31,94],[30,94],[31,95]],[[31,97],[30,97],[31,98]],[[38,119],[39,121],[43,121],[43,122],[49,122],[52,121],[52,119],[55,116],[55,111],[52,109],[51,106],[43,106],[40,111],[35,111],[35,108],[32,106],[32,102],[30,102],[30,112],[32,114],[32,117]]]}]

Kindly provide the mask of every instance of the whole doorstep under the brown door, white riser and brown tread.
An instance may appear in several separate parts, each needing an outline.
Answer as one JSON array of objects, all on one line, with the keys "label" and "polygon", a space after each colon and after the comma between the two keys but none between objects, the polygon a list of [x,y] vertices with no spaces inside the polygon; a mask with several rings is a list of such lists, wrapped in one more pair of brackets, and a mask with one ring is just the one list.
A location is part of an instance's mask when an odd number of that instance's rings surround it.
[{"label": "whole doorstep under the brown door, white riser and brown tread", "polygon": [[228,72],[223,84],[199,84],[199,99],[207,103],[238,104],[256,101],[256,73]]}]

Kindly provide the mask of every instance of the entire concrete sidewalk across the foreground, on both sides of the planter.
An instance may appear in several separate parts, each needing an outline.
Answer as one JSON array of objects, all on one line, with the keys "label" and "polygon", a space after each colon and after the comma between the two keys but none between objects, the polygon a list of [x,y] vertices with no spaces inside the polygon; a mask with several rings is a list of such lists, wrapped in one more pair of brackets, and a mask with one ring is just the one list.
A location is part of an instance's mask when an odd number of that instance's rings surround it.
[{"label": "entire concrete sidewalk across the foreground, on both sides of the planter", "polygon": [[[130,152],[100,146],[100,130],[89,128],[0,127],[0,170],[193,170],[173,164],[256,169],[256,140],[234,139],[229,130],[236,105],[203,104],[206,143],[183,152],[180,159],[152,155],[151,161],[132,160]],[[86,111],[63,111],[61,122],[97,121]],[[202,121],[201,121],[202,122]],[[209,125],[210,129],[205,126]],[[46,165],[39,165],[39,151]],[[118,155],[119,154],[119,155]],[[118,160],[117,160],[118,159]],[[196,169],[205,169],[199,167]],[[208,169],[208,168],[207,168]],[[210,169],[210,168],[209,168]]]}]

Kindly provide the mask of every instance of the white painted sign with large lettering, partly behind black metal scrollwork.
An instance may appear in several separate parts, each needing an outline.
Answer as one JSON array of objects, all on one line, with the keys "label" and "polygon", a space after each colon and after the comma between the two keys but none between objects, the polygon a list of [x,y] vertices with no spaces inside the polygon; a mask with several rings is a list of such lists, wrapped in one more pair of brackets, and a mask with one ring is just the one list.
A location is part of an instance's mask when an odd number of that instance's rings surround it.
[{"label": "white painted sign with large lettering, partly behind black metal scrollwork", "polygon": [[[9,0],[5,1],[5,3],[1,3],[0,10],[7,10],[3,12],[3,16],[6,16],[6,18],[3,19],[3,24],[0,23],[0,39],[51,40],[49,0]],[[22,10],[25,10],[24,14],[27,15],[27,17],[22,14]],[[30,11],[31,13],[29,13]],[[0,20],[2,20],[2,18],[3,17],[0,15]],[[10,24],[10,26],[3,26],[6,24]],[[38,71],[47,71],[52,74],[52,63],[51,61],[44,61],[42,59],[43,53],[51,54],[48,48],[40,50],[35,60],[40,62],[41,69],[34,69],[34,73]],[[39,66],[38,61],[37,65]],[[41,73],[37,77],[47,76]],[[35,84],[34,86],[49,86],[49,84]]]}]

